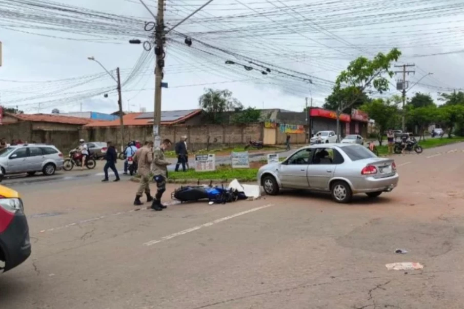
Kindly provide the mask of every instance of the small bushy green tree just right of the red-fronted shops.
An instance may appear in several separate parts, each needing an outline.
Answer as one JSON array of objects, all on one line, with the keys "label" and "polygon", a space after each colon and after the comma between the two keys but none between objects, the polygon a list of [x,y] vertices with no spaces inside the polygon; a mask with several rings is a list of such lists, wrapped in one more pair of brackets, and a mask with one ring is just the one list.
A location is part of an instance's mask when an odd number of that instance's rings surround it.
[{"label": "small bushy green tree just right of the red-fronted shops", "polygon": [[397,121],[398,106],[395,102],[383,99],[373,99],[360,107],[362,111],[369,114],[375,120],[375,125],[379,130],[378,142],[382,146],[382,134],[394,127]]}]

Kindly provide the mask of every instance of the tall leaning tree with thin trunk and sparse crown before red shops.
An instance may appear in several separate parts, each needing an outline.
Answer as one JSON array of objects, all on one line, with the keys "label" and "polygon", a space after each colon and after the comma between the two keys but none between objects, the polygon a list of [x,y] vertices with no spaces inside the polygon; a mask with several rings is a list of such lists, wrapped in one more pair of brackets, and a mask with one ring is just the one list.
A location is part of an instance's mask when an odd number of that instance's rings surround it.
[{"label": "tall leaning tree with thin trunk and sparse crown before red shops", "polygon": [[393,76],[390,70],[391,63],[398,60],[401,52],[394,48],[388,54],[378,53],[372,60],[361,56],[351,61],[348,68],[341,71],[335,80],[333,93],[337,97],[348,98],[339,102],[336,109],[337,138],[340,138],[340,114],[351,108],[364,91],[377,91],[383,93],[389,90],[389,79],[384,75]]}]

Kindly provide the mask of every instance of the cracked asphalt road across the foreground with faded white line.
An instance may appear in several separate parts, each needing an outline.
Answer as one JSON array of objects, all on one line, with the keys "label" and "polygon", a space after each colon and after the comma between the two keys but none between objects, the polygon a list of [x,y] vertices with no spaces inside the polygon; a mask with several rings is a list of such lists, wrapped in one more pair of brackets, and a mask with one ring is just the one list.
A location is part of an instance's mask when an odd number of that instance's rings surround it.
[{"label": "cracked asphalt road across the foreground with faded white line", "polygon": [[[129,181],[13,184],[33,254],[0,275],[0,307],[462,308],[463,158],[464,143],[396,156],[399,187],[348,205],[285,192],[134,211]],[[409,261],[425,267],[385,267]]]}]

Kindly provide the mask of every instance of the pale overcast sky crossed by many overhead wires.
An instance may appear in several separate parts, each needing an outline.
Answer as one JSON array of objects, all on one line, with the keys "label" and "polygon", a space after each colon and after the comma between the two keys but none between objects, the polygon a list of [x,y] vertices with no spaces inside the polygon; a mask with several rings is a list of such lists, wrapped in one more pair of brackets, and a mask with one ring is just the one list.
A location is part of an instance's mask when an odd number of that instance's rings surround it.
[{"label": "pale overcast sky crossed by many overhead wires", "polygon": [[[143,20],[153,18],[137,0],[60,2],[133,16],[134,23],[130,27],[140,29],[138,37],[133,35],[134,38],[148,39]],[[156,2],[146,2],[156,13]],[[168,28],[205,2],[167,1],[165,22]],[[109,31],[104,39],[93,43],[86,40],[92,35],[91,28],[83,35],[40,29],[34,18],[15,22],[16,18],[5,12],[21,8],[5,9],[6,3],[12,4],[0,0],[2,105],[18,106],[28,113],[49,113],[53,108],[61,112],[79,111],[81,104],[83,111],[116,111],[115,82],[97,63],[87,59],[93,56],[108,70],[120,67],[123,81],[130,77],[123,87],[124,110],[153,110],[153,51],[144,51],[142,45],[128,44],[131,35],[123,32],[130,27],[122,24],[120,34]],[[116,24],[113,28],[117,29]],[[205,87],[229,89],[245,106],[256,108],[300,111],[305,106],[305,97],[311,96],[314,104],[320,106],[330,93],[330,81],[350,60],[359,55],[372,57],[393,47],[403,53],[399,64],[416,65],[409,68],[416,71],[408,77],[411,85],[427,72],[433,72],[414,86],[408,96],[420,91],[436,97],[437,92],[464,87],[464,71],[460,69],[464,65],[462,0],[330,0],[322,3],[315,0],[215,0],[176,30],[178,33],[168,34],[164,78],[168,89],[163,89],[163,110],[197,108],[198,97]],[[194,38],[191,48],[181,44],[184,37],[179,33]],[[212,47],[199,44],[195,39]],[[253,64],[251,71],[238,65],[227,66],[225,60],[240,61],[219,49],[311,75],[313,84],[274,69],[263,75],[260,73],[263,68]],[[139,66],[134,70],[136,63]],[[105,91],[109,93],[107,98],[103,95]],[[384,96],[393,93],[398,92],[392,87]]]}]

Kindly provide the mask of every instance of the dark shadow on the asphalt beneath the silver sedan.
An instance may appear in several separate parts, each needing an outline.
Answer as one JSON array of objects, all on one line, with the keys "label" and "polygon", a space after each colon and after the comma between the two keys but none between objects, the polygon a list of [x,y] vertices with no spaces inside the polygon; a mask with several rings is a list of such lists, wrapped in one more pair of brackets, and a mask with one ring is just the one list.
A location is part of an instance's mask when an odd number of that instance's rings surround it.
[{"label": "dark shadow on the asphalt beneath the silver sedan", "polygon": [[[388,194],[388,193],[385,193]],[[279,195],[281,196],[292,196],[292,197],[301,197],[301,198],[310,198],[312,200],[326,200],[331,201],[334,204],[338,204],[332,200],[330,193],[314,192],[309,190],[283,190],[280,191]],[[308,199],[308,201],[311,201]],[[388,204],[393,200],[386,196],[379,196],[377,198],[369,198],[364,193],[359,193],[353,195],[352,201],[348,205],[378,205],[378,204]]]}]

